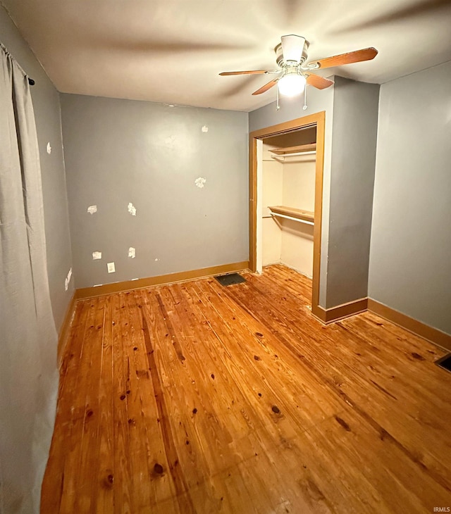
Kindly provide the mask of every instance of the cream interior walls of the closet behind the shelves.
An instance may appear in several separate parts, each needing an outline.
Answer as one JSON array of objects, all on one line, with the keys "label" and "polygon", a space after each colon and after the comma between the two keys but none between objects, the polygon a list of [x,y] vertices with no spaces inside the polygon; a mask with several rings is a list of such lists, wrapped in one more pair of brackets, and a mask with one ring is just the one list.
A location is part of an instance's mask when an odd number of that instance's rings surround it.
[{"label": "cream interior walls of the closet behind the shelves", "polygon": [[271,206],[314,212],[316,158],[279,156],[274,150],[316,142],[316,128],[263,140],[263,265],[281,263],[307,277],[313,275],[313,225],[271,215]]}]

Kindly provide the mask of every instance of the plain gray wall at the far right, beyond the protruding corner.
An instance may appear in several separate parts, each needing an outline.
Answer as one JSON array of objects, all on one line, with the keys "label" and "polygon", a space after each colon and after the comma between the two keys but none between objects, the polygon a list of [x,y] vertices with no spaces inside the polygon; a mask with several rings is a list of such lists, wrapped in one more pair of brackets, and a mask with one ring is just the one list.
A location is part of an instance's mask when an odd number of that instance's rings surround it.
[{"label": "plain gray wall at the far right, beyond the protruding corner", "polygon": [[369,296],[451,334],[451,63],[381,86]]}]

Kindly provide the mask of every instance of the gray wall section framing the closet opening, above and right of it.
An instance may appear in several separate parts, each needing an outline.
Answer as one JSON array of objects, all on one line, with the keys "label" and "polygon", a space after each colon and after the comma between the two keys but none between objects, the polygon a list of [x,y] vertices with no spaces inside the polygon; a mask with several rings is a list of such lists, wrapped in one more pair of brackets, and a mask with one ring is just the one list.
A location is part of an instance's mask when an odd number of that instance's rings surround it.
[{"label": "gray wall section framing the closet opening, above and right of it", "polygon": [[[334,77],[331,77],[334,78]],[[268,93],[271,94],[271,93]],[[321,227],[321,270],[319,277],[319,304],[326,307],[327,290],[327,254],[329,231],[329,194],[330,194],[330,161],[332,153],[334,88],[315,89],[307,87],[307,109],[302,109],[302,97],[280,97],[280,110],[276,111],[276,102],[249,113],[249,132],[271,127],[278,123],[302,118],[309,114],[326,111],[326,130],[324,141],[324,173],[323,173],[323,222]]]}]

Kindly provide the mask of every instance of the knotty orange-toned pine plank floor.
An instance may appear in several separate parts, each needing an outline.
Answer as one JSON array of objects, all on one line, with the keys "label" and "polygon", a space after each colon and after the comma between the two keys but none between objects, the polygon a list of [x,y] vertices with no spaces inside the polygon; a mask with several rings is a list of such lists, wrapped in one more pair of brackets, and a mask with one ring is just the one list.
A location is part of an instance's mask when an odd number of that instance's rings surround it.
[{"label": "knotty orange-toned pine plank floor", "polygon": [[271,266],[79,301],[42,513],[429,513],[451,506],[444,354],[324,326]]}]

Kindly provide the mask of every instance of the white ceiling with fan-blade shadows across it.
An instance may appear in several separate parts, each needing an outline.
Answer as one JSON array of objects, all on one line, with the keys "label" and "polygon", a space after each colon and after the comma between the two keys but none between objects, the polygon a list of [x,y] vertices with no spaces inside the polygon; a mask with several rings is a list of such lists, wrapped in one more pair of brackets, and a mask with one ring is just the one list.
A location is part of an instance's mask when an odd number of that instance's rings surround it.
[{"label": "white ceiling with fan-blade shadows across it", "polygon": [[[61,92],[237,111],[274,68],[280,36],[309,59],[374,46],[373,61],[323,70],[383,83],[451,60],[451,0],[1,0]],[[327,72],[327,73],[326,73]]]}]

